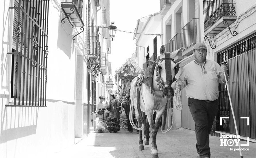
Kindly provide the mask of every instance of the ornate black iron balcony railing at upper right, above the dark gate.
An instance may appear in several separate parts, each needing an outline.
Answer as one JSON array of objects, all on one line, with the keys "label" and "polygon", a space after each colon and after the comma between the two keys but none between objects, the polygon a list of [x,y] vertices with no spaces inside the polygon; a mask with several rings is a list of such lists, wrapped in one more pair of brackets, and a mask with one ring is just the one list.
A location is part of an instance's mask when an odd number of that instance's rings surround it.
[{"label": "ornate black iron balcony railing at upper right, above the dark gate", "polygon": [[203,6],[205,30],[212,26],[222,16],[236,15],[235,3],[233,3],[233,0],[204,0]]}]

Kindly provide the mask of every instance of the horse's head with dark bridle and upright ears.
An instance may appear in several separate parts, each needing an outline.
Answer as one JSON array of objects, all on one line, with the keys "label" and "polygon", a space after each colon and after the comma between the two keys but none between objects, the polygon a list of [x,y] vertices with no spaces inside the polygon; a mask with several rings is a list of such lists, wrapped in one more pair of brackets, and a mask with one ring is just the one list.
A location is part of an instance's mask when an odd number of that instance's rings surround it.
[{"label": "horse's head with dark bridle and upright ears", "polygon": [[[176,80],[175,75],[179,71],[179,64],[175,63],[174,59],[183,48],[178,49],[172,53],[165,52],[165,46],[160,48],[160,56],[156,61],[154,70],[153,84],[154,89],[163,90],[163,96],[170,99],[173,95],[171,84]],[[157,85],[157,86],[156,86]]]}]

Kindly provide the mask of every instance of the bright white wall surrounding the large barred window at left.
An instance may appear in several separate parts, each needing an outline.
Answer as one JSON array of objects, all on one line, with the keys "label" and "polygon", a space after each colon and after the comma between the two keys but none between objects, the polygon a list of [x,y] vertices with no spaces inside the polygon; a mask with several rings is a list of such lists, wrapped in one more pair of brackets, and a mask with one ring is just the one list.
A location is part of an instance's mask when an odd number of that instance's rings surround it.
[{"label": "bright white wall surrounding the large barred window at left", "polygon": [[[85,50],[79,46],[81,40],[73,43],[75,32],[69,22],[60,22],[65,16],[58,1],[49,1],[47,107],[5,107],[9,104],[11,80],[11,55],[7,52],[12,51],[13,9],[9,6],[14,6],[14,0],[0,1],[3,22],[0,25],[0,157],[49,157],[74,144],[76,126],[79,126],[76,131],[82,130],[81,107],[82,103],[88,103],[90,81],[87,80],[87,61],[82,57],[80,63],[83,64],[77,65],[76,56]],[[94,5],[94,1],[92,3]],[[80,74],[76,73],[77,66],[81,66]],[[82,96],[76,96],[77,85],[82,85],[77,91],[82,91]],[[81,110],[79,116],[75,110]],[[76,116],[79,123],[75,121]]]}]

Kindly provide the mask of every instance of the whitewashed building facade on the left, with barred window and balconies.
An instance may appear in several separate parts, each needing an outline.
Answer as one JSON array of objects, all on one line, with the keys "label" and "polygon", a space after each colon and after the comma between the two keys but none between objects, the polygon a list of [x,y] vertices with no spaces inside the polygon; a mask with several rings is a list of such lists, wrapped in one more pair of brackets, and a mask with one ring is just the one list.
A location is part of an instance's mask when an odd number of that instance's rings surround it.
[{"label": "whitewashed building facade on the left, with barred window and balconies", "polygon": [[[110,24],[109,1],[11,0],[0,6],[0,155],[50,157],[94,130],[111,44],[92,26]],[[99,31],[109,36],[108,29]],[[100,69],[90,72],[97,64]]]}]

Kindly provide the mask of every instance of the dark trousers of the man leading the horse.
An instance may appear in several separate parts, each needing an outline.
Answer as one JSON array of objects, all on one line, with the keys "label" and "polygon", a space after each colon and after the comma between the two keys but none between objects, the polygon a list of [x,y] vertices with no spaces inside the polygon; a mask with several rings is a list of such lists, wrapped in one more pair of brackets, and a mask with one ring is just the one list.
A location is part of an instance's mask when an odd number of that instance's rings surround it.
[{"label": "dark trousers of the man leading the horse", "polygon": [[210,102],[188,98],[188,106],[195,122],[196,150],[200,157],[211,157],[209,134],[218,112],[218,105],[218,99]]}]

